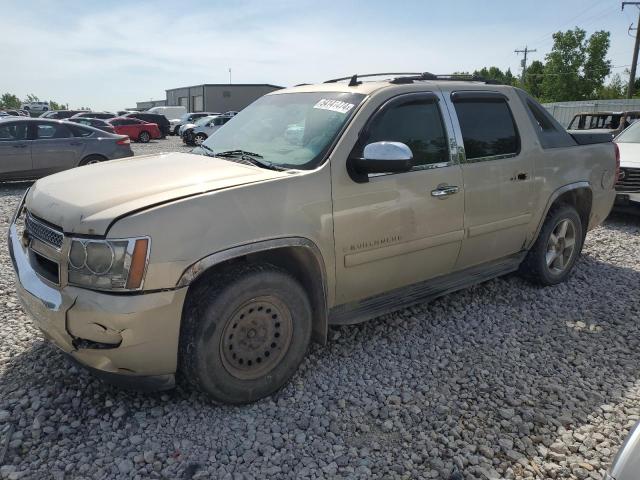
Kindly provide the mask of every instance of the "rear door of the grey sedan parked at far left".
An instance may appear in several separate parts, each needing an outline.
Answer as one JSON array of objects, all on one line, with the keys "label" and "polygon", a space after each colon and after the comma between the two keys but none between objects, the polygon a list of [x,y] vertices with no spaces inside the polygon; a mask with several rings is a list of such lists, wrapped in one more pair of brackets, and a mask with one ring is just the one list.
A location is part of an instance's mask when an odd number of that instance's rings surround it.
[{"label": "rear door of the grey sedan parked at far left", "polygon": [[80,163],[84,142],[74,137],[67,126],[55,122],[37,122],[31,126],[31,156],[38,176],[67,170]]}]

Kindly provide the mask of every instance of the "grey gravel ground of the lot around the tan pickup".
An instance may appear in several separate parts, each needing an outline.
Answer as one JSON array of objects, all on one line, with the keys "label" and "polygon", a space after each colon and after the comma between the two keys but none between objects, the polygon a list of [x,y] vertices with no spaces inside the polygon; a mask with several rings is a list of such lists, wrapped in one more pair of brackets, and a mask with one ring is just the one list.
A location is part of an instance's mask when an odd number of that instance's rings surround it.
[{"label": "grey gravel ground of the lot around the tan pickup", "polygon": [[[26,186],[0,185],[2,238]],[[3,245],[0,477],[599,479],[640,417],[639,252],[640,217],[616,215],[564,285],[510,276],[332,329],[276,396],[228,407],[75,367],[23,313]]]}]

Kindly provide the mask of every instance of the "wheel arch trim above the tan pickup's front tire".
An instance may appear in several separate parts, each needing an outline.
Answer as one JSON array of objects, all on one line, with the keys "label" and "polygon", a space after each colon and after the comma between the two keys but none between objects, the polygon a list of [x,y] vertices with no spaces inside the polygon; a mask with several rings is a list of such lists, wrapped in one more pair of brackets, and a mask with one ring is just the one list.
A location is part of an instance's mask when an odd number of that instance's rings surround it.
[{"label": "wheel arch trim above the tan pickup's front tire", "polygon": [[[327,339],[327,275],[320,249],[303,237],[288,237],[255,242],[208,255],[189,266],[178,280],[177,287],[189,290],[210,275],[233,268],[238,263],[270,263],[289,272],[305,289],[313,312],[314,341]],[[188,293],[187,293],[188,295]]]}]

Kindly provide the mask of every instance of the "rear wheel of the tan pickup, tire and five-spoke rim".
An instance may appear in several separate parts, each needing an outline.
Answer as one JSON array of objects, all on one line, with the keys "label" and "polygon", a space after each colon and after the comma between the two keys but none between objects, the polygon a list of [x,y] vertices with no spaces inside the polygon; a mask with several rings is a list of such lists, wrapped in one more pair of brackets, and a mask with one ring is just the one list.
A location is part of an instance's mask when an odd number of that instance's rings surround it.
[{"label": "rear wheel of the tan pickup, tire and five-spoke rim", "polygon": [[582,220],[574,207],[552,207],[538,238],[520,265],[520,273],[538,285],[564,282],[580,256],[584,236]]}]

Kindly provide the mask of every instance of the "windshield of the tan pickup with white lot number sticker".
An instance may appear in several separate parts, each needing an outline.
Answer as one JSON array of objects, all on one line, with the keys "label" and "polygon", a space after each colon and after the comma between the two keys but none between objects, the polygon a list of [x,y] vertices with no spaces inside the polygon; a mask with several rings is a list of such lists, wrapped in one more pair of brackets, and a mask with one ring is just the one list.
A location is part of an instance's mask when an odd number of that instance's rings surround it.
[{"label": "windshield of the tan pickup with white lot number sticker", "polygon": [[283,168],[317,167],[364,95],[313,92],[266,95],[234,116],[194,153],[255,152]]}]

